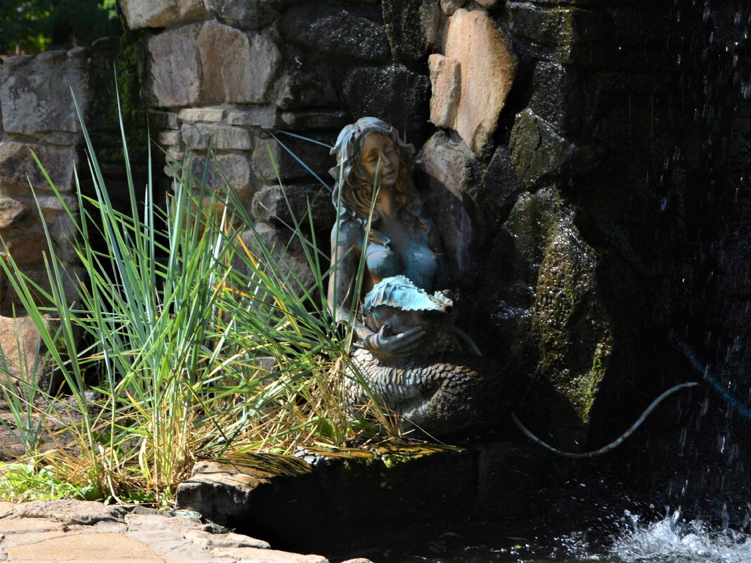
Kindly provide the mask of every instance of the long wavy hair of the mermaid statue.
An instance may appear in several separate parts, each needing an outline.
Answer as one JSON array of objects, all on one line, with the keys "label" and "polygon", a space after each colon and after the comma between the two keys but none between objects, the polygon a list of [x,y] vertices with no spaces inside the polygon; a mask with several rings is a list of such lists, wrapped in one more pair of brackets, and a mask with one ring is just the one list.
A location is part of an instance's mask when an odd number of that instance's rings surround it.
[{"label": "long wavy hair of the mermaid statue", "polygon": [[[415,146],[406,143],[394,126],[375,117],[362,117],[357,119],[357,122],[347,125],[339,133],[336,144],[331,149],[331,154],[336,155],[337,164],[329,170],[331,176],[336,179],[332,194],[334,206],[339,204],[341,191],[339,220],[349,218],[364,224],[370,213],[373,179],[369,178],[360,166],[360,155],[365,138],[371,134],[385,135],[391,139],[399,155],[399,175],[394,186],[394,197],[401,217],[412,227],[427,230],[428,225],[422,215],[420,198],[412,182],[412,156],[415,154]],[[385,237],[377,230],[378,222],[379,215],[374,209],[369,239],[371,242],[383,244]]]}]

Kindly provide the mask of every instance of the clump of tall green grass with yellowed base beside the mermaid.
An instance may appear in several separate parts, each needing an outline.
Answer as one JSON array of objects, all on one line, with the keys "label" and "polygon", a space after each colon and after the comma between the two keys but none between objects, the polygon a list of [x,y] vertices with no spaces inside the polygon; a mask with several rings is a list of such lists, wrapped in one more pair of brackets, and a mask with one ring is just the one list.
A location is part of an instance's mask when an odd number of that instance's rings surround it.
[{"label": "clump of tall green grass with yellowed base beside the mermaid", "polygon": [[[37,160],[77,231],[71,244],[86,273],[73,280],[74,302],[65,294],[73,270],[44,221],[46,285],[11,254],[0,260],[44,361],[65,382],[61,394],[35,386],[32,373],[20,390],[3,379],[30,459],[89,497],[163,501],[197,457],[351,439],[366,426],[350,420],[343,396],[351,330],[330,318],[328,259],[308,234],[312,218],[290,225],[312,272],[306,285],[283,248],[264,245],[231,185],[193,176],[189,161],[175,166],[164,206],[150,166],[137,200],[120,125],[126,210],[113,205],[85,125],[93,190],[83,195],[77,173],[77,209]],[[100,238],[104,251],[92,244]]]}]

